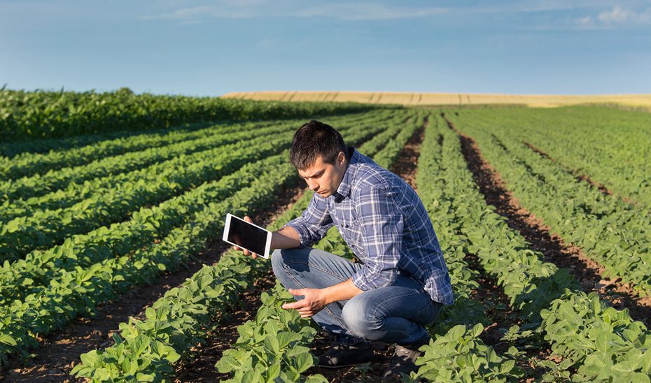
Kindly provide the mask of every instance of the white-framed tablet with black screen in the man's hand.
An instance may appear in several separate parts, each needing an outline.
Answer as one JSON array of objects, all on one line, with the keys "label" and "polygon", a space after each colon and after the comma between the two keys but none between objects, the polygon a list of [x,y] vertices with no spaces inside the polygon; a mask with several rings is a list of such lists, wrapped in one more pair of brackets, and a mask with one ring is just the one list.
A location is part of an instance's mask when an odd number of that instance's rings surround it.
[{"label": "white-framed tablet with black screen in the man's hand", "polygon": [[271,231],[250,224],[230,213],[226,214],[226,224],[224,225],[224,235],[222,237],[225,242],[254,252],[258,256],[262,256],[262,258],[269,259],[271,237]]}]

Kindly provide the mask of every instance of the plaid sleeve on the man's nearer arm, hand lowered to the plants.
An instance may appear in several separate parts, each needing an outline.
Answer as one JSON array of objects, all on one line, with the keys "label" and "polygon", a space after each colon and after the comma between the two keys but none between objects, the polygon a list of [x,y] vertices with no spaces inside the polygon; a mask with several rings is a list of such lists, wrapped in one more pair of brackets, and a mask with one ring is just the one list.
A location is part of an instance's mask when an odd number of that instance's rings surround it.
[{"label": "plaid sleeve on the man's nearer arm, hand lowered to the plants", "polygon": [[367,258],[363,268],[353,274],[352,282],[363,291],[391,286],[398,277],[404,228],[402,213],[393,203],[393,192],[386,187],[365,187],[358,201],[361,245]]}]

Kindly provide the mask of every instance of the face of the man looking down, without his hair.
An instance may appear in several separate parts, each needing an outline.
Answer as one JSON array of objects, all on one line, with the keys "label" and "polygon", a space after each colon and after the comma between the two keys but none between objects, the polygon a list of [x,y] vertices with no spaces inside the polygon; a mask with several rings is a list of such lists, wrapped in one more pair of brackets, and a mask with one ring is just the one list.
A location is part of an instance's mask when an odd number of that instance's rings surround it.
[{"label": "face of the man looking down, without his hair", "polygon": [[310,190],[326,198],[337,192],[345,172],[346,156],[343,152],[339,152],[335,164],[325,163],[323,158],[318,156],[312,166],[298,171],[298,174],[307,182]]}]

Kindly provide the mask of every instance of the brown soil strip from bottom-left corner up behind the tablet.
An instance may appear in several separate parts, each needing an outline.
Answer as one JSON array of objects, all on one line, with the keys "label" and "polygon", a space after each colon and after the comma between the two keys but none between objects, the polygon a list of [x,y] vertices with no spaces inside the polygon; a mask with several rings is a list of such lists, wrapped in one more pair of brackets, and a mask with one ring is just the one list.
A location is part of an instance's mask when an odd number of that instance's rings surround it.
[{"label": "brown soil strip from bottom-left corner up behind the tablet", "polygon": [[[268,224],[277,215],[297,201],[304,192],[304,182],[297,180],[293,187],[279,192],[282,196],[264,212],[252,217],[256,224]],[[269,214],[271,213],[271,214]],[[41,347],[29,366],[21,366],[21,361],[12,360],[6,371],[0,371],[0,380],[7,382],[77,382],[69,375],[70,370],[79,363],[79,356],[92,349],[108,347],[112,344],[111,335],[118,332],[118,325],[129,317],[144,317],[144,311],[166,291],[181,284],[195,274],[204,264],[214,264],[228,246],[221,240],[214,240],[198,259],[188,261],[186,268],[174,273],[161,275],[147,286],[137,286],[120,297],[98,306],[94,318],[78,318],[61,331],[45,337]],[[214,365],[214,363],[213,363]],[[213,368],[214,371],[214,368]]]}]

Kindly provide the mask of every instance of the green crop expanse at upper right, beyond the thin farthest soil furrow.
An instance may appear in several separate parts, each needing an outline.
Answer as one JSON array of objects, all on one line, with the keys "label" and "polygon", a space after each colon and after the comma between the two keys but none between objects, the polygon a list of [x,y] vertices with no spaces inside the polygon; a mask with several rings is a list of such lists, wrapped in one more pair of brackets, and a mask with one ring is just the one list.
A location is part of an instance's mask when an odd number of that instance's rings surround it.
[{"label": "green crop expanse at upper right, beyond the thin farthest soil furrow", "polygon": [[477,115],[491,130],[533,145],[573,175],[587,175],[618,196],[651,208],[649,113],[575,106]]}]

